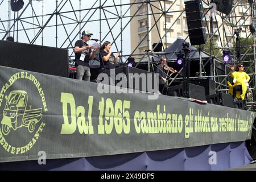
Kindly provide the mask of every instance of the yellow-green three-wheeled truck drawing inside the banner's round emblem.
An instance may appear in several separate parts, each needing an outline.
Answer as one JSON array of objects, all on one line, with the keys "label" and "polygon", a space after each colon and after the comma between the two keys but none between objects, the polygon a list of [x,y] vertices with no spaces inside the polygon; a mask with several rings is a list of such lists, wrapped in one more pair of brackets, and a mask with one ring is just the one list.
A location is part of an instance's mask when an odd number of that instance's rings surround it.
[{"label": "yellow-green three-wheeled truck drawing inside the banner's round emblem", "polygon": [[23,126],[32,133],[36,123],[42,119],[42,108],[31,109],[31,106],[28,106],[27,92],[22,90],[11,91],[5,98],[6,105],[1,121],[2,133],[8,135],[11,129],[16,131]]}]

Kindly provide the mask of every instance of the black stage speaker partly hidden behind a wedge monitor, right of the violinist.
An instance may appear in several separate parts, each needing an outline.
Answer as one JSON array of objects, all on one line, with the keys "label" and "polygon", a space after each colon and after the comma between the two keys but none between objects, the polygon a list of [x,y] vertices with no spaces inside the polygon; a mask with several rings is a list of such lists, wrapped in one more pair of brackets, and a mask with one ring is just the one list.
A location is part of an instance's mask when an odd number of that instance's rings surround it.
[{"label": "black stage speaker partly hidden behind a wedge monitor, right of the violinist", "polygon": [[191,84],[203,86],[205,89],[205,96],[215,94],[215,82],[210,79],[196,79],[190,80]]}]

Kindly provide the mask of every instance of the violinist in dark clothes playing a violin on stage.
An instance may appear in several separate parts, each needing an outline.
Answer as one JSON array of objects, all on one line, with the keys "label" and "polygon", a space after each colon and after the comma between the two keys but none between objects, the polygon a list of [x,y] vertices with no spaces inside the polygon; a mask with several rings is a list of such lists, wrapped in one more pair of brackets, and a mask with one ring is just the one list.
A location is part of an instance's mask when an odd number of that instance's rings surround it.
[{"label": "violinist in dark clothes playing a violin on stage", "polygon": [[164,85],[167,84],[168,75],[177,73],[174,68],[168,67],[167,59],[165,56],[160,58],[160,64],[156,68],[156,73],[159,74],[159,91],[163,93]]}]

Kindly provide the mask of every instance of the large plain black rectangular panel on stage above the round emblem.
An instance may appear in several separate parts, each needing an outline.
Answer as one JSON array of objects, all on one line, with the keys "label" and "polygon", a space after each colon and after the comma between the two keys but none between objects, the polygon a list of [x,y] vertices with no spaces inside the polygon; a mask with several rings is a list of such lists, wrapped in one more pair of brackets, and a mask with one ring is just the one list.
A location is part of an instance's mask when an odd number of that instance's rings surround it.
[{"label": "large plain black rectangular panel on stage above the round emblem", "polygon": [[0,65],[68,77],[68,50],[0,40]]}]

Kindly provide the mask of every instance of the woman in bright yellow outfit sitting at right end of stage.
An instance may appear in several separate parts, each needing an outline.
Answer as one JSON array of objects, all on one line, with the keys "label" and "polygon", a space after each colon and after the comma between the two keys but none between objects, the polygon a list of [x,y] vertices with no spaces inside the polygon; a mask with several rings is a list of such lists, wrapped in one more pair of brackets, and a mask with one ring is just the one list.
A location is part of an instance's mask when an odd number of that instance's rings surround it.
[{"label": "woman in bright yellow outfit sitting at right end of stage", "polygon": [[248,82],[250,80],[250,77],[245,73],[242,64],[237,64],[236,69],[234,69],[233,65],[230,68],[231,68],[230,76],[232,76],[233,78],[234,85],[228,82],[229,93],[233,95],[233,100],[236,100],[236,97],[244,100],[245,94],[247,92],[247,86],[249,86]]}]

